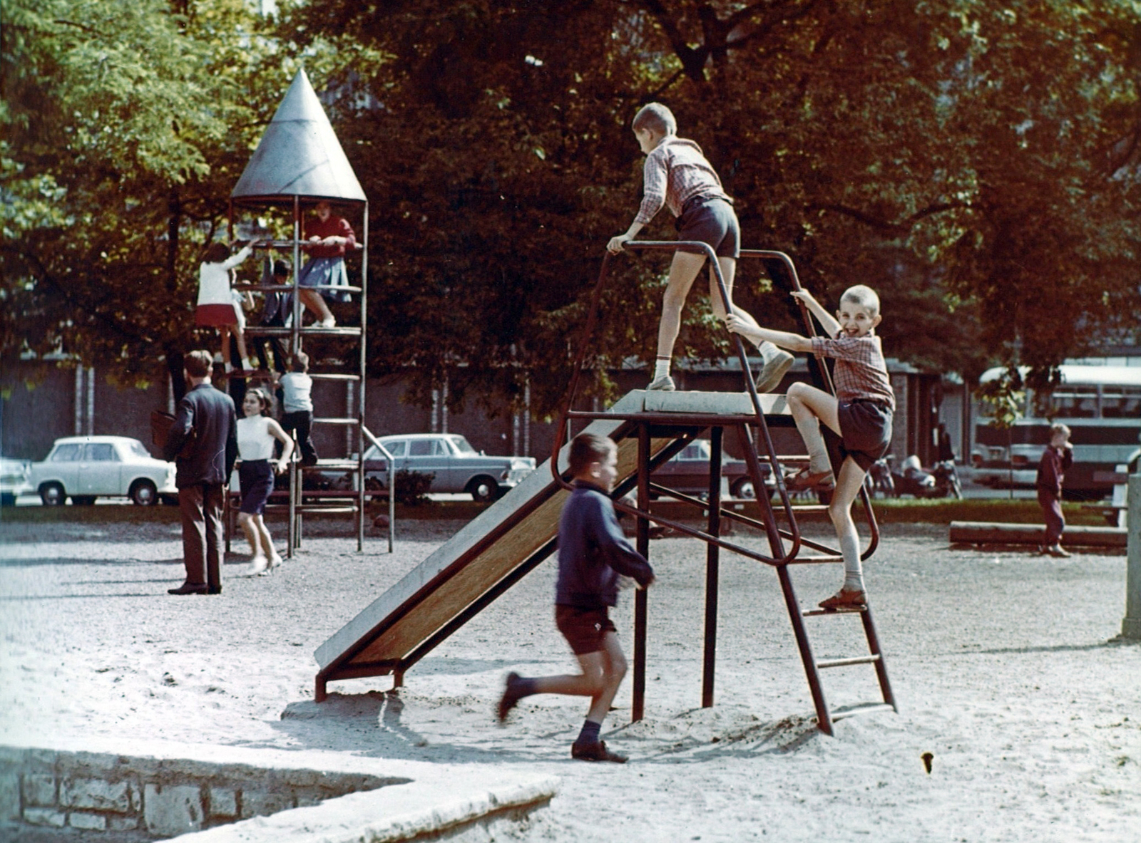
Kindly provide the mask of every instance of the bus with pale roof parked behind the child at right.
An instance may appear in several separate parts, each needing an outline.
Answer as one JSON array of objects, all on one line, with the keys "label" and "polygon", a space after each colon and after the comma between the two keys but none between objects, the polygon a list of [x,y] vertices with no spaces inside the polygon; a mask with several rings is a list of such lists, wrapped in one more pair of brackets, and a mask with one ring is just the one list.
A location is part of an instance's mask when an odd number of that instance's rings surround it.
[{"label": "bus with pale roof parked behind the child at right", "polygon": [[[1059,366],[1061,383],[1049,402],[1026,389],[1021,416],[1013,427],[992,427],[982,415],[974,427],[971,465],[974,480],[994,488],[1033,488],[1050,425],[1073,431],[1074,464],[1066,472],[1067,496],[1098,500],[1120,481],[1141,441],[1141,366]],[[1002,367],[982,373],[980,383],[1001,378]],[[1023,375],[1026,370],[1023,370]],[[986,406],[985,404],[982,406]]]}]

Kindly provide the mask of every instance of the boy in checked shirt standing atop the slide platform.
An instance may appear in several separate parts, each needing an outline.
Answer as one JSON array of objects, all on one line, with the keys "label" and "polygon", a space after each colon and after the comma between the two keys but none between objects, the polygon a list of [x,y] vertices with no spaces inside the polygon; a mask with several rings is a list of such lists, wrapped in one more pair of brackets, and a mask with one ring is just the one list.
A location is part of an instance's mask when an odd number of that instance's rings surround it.
[{"label": "boy in checked shirt standing atop the slide platform", "polygon": [[[730,309],[744,324],[756,327],[752,316],[733,305],[733,279],[737,271],[737,258],[741,257],[741,226],[733,210],[733,200],[721,187],[717,171],[705,160],[697,144],[678,137],[678,122],[673,113],[661,103],[642,106],[634,115],[632,128],[638,145],[646,155],[642,168],[642,203],[625,234],[612,237],[606,248],[614,253],[621,252],[623,244],[633,240],[662,210],[663,204],[669,206],[670,212],[678,218],[678,240],[701,241],[713,248],[721,266]],[[662,322],[657,329],[654,380],[648,389],[669,391],[674,388],[670,376],[670,362],[681,326],[681,306],[686,303],[689,287],[704,265],[705,254],[702,252],[690,252],[681,246],[673,253],[670,278],[662,300]],[[726,310],[712,267],[710,299],[713,313],[719,318],[725,318]],[[771,392],[788,371],[793,358],[791,354],[763,340],[756,340],[756,348],[764,360],[764,367],[756,378],[756,390]]]}]

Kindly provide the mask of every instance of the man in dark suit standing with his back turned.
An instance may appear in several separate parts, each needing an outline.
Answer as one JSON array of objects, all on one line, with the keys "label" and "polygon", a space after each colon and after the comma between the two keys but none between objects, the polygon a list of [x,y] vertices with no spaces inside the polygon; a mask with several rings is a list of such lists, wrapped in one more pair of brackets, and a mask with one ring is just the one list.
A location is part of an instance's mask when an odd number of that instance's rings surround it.
[{"label": "man in dark suit standing with his back turned", "polygon": [[[183,560],[186,582],[170,594],[221,593],[221,510],[226,485],[237,459],[237,415],[234,400],[213,388],[209,351],[191,351],[184,358],[189,389],[163,448],[163,459],[175,460],[178,508],[183,513]],[[183,446],[191,441],[187,453]]]}]

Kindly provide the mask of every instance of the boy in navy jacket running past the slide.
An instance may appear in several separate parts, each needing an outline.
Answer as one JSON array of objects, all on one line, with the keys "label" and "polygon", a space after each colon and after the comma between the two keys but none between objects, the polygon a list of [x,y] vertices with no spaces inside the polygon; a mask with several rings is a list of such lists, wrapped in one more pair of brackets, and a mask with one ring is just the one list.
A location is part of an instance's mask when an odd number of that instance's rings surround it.
[{"label": "boy in navy jacket running past the slide", "polygon": [[599,739],[602,720],[626,673],[626,659],[608,609],[617,603],[620,575],[633,577],[639,587],[646,589],[654,582],[654,572],[626,541],[614,516],[609,497],[618,465],[614,441],[596,433],[580,433],[570,443],[569,463],[574,491],[559,520],[555,625],[570,645],[582,672],[533,678],[508,674],[499,720],[502,723],[520,699],[533,694],[590,697],[586,722],[570,746],[570,757],[621,764],[626,757],[610,752]]}]

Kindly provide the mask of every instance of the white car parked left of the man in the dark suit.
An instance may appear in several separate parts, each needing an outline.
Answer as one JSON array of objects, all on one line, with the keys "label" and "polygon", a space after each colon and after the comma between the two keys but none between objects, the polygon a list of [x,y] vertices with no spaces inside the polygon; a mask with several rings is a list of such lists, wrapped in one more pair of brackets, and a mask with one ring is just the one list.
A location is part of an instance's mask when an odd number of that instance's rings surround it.
[{"label": "white car parked left of the man in the dark suit", "polygon": [[67,497],[89,505],[96,497],[127,495],[149,506],[160,495],[177,495],[175,463],[155,460],[138,439],[126,436],[68,436],[56,439],[43,462],[32,463],[29,485],[46,506]]}]

